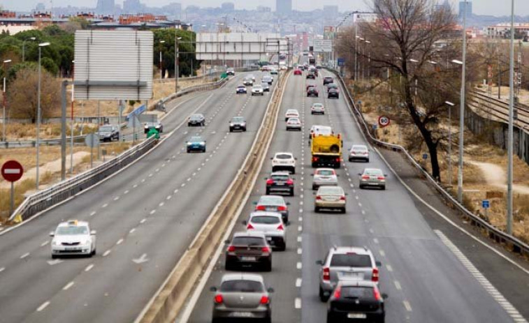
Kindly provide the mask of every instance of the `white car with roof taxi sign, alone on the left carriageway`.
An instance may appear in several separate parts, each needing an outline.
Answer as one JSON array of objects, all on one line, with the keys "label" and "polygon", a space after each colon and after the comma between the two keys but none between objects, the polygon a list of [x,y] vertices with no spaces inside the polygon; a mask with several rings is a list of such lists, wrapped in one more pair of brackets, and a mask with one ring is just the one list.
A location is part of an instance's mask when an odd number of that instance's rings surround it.
[{"label": "white car with roof taxi sign, alone on the left carriageway", "polygon": [[96,254],[96,232],[90,231],[85,221],[68,220],[57,225],[54,232],[50,232],[52,239],[52,258],[61,255]]}]

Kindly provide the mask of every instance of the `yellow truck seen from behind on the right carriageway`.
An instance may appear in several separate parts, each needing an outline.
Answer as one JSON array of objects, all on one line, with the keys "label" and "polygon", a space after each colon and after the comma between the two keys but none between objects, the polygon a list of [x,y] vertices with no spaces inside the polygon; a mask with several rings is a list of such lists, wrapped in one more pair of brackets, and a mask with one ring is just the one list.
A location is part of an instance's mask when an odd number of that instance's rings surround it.
[{"label": "yellow truck seen from behind on the right carriageway", "polygon": [[311,139],[312,167],[340,168],[343,147],[342,136],[340,134],[312,134]]}]

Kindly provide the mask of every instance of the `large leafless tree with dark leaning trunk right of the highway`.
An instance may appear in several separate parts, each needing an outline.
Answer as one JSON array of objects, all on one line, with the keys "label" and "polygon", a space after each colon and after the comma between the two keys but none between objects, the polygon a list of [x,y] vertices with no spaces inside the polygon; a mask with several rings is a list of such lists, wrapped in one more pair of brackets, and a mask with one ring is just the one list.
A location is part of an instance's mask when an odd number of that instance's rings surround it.
[{"label": "large leafless tree with dark leaning trunk right of the highway", "polygon": [[444,40],[454,38],[458,31],[450,10],[436,8],[435,3],[433,0],[373,0],[372,10],[378,20],[356,26],[358,36],[370,41],[369,57],[360,42],[354,41],[354,33],[349,33],[346,46],[349,52],[356,52],[358,60],[369,59],[377,75],[390,75],[389,81],[396,83],[394,90],[400,100],[397,106],[407,112],[421,134],[430,153],[432,175],[440,179],[437,148],[447,131],[439,127],[439,122],[447,116],[444,101],[456,97],[454,73],[458,70],[444,63],[457,48],[442,50],[437,42],[443,40],[442,44],[449,46],[451,42]]}]

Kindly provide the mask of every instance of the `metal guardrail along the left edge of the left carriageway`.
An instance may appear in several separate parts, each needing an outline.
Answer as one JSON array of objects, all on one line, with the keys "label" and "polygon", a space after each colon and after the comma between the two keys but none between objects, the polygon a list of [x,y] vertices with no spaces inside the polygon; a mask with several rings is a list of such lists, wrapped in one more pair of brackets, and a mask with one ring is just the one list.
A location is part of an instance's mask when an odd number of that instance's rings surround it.
[{"label": "metal guardrail along the left edge of the left carriageway", "polygon": [[[190,93],[191,91],[217,89],[223,87],[228,80],[229,79],[226,78],[219,82],[189,87],[188,89],[184,89],[184,91],[175,93],[174,98],[183,95],[183,92]],[[9,220],[14,220],[17,216],[20,216],[22,220],[27,220],[36,213],[48,209],[50,206],[62,202],[80,191],[99,183],[99,181],[102,181],[110,174],[121,170],[124,166],[132,163],[133,160],[142,156],[145,152],[154,147],[157,142],[158,140],[155,140],[154,137],[150,137],[135,147],[124,151],[124,153],[119,156],[108,160],[106,163],[92,168],[92,170],[87,170],[86,172],[73,176],[71,179],[61,181],[50,188],[46,188],[26,197],[24,202],[22,202],[22,204],[15,209],[13,214],[10,215]]]}]

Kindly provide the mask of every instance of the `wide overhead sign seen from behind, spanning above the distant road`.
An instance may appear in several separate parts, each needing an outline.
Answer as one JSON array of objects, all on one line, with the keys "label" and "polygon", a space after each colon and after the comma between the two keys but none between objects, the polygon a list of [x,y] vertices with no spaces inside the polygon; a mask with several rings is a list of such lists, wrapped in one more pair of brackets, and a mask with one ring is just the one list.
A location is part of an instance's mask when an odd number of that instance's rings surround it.
[{"label": "wide overhead sign seen from behind, spanning above the distant road", "polygon": [[267,60],[267,53],[287,50],[287,40],[278,33],[197,33],[196,59]]}]

